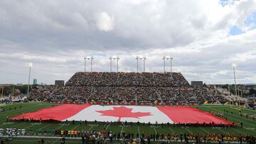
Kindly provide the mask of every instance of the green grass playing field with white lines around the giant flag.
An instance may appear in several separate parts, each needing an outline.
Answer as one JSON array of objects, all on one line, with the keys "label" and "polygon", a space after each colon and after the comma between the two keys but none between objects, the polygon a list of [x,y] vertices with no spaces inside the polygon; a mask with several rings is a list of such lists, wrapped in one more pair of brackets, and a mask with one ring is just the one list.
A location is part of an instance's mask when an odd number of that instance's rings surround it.
[{"label": "green grass playing field with white lines around the giant flag", "polygon": [[[31,111],[37,111],[39,109],[43,109],[46,107],[50,107],[53,105],[58,104],[46,104],[46,103],[18,103],[18,104],[11,104],[4,106],[6,109],[5,112],[0,113],[0,128],[25,128],[28,130],[36,130],[36,131],[49,131],[49,130],[80,130],[80,131],[101,131],[104,130],[104,124],[103,123],[97,123],[97,126],[92,125],[91,123],[82,123],[80,125],[80,122],[68,123],[29,123],[29,122],[14,122],[14,121],[6,121],[6,117],[9,118],[12,116],[17,116],[22,113],[28,113]],[[9,108],[11,107],[11,110]],[[16,109],[14,109],[16,107]],[[137,133],[244,133],[244,134],[250,134],[250,135],[256,135],[256,121],[254,121],[252,118],[246,118],[239,116],[239,109],[238,107],[231,107],[230,106],[196,106],[198,109],[201,109],[202,111],[221,111],[223,112],[224,109],[228,110],[228,113],[225,113],[225,116],[228,118],[228,121],[233,121],[235,123],[243,123],[243,127],[241,128],[240,125],[238,126],[231,126],[230,128],[213,128],[213,127],[183,127],[183,126],[144,126],[143,124],[140,124],[139,126],[137,123],[133,123],[132,126],[119,126],[119,125],[108,125],[107,131],[112,132],[121,132],[124,131],[125,133],[134,133],[136,135]],[[233,114],[230,113],[230,111],[233,111]],[[250,109],[241,109],[242,113],[253,113],[256,114],[256,111],[250,110]],[[27,135],[38,135],[38,133],[26,133]],[[17,141],[18,139],[15,139]],[[20,141],[26,141],[27,143],[30,143],[29,140],[31,140],[31,143],[35,143],[35,139],[20,139]],[[58,139],[50,139],[50,142],[58,143]],[[67,140],[68,142],[68,140]],[[80,141],[71,140],[70,143],[80,143]]]}]

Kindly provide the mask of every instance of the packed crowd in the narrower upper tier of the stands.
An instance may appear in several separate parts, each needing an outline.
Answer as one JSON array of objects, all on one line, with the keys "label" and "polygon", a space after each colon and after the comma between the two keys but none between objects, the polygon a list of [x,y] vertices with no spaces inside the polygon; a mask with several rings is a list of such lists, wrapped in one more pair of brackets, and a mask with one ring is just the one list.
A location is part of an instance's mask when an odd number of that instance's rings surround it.
[{"label": "packed crowd in the narrower upper tier of the stands", "polygon": [[76,72],[66,86],[188,86],[188,81],[177,72]]}]

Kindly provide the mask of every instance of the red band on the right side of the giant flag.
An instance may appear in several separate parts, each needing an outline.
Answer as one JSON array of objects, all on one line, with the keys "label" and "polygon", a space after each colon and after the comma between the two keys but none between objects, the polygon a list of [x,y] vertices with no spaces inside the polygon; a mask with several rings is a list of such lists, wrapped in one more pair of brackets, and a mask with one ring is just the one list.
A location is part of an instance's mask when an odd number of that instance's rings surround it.
[{"label": "red band on the right side of the giant flag", "polygon": [[199,109],[195,109],[189,106],[160,106],[157,107],[160,111],[169,116],[171,121],[174,123],[212,123],[215,124],[227,124],[231,125],[232,122],[226,121],[223,118],[219,118],[218,116],[214,116],[211,113],[201,111]]}]

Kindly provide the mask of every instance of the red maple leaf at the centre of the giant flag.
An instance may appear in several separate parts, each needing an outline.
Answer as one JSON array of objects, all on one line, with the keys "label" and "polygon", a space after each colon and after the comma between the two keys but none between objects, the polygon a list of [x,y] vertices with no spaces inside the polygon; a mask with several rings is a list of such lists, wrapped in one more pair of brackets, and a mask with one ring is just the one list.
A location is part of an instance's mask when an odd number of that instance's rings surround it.
[{"label": "red maple leaf at the centre of the giant flag", "polygon": [[117,121],[120,121],[121,118],[139,118],[142,116],[151,116],[150,112],[132,112],[132,109],[127,108],[125,106],[113,107],[113,110],[105,110],[105,111],[97,111],[98,113],[102,113],[101,116],[114,116],[118,117]]}]

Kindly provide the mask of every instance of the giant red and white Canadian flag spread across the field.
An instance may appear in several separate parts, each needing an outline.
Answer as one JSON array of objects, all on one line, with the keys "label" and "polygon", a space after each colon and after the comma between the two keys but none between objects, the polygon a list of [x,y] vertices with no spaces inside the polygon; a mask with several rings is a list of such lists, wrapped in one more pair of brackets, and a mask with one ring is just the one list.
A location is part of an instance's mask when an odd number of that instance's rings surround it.
[{"label": "giant red and white Canadian flag spread across the field", "polygon": [[56,121],[127,121],[137,123],[223,123],[230,121],[200,111],[190,106],[100,106],[63,104],[24,113],[12,119],[56,120]]}]

